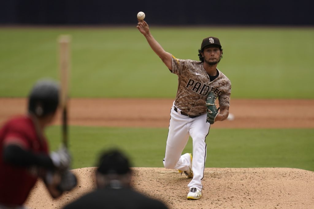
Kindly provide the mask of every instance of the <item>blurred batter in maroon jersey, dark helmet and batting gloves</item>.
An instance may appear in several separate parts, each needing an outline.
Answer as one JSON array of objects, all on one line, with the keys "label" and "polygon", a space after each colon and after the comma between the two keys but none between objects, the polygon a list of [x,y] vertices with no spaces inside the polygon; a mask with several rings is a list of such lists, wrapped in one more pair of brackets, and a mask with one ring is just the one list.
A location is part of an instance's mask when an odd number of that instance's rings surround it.
[{"label": "blurred batter in maroon jersey, dark helmet and batting gloves", "polygon": [[52,197],[77,183],[68,167],[66,148],[49,154],[45,128],[55,118],[59,86],[38,81],[30,92],[28,113],[8,120],[0,128],[0,209],[23,209],[24,202],[41,177]]}]

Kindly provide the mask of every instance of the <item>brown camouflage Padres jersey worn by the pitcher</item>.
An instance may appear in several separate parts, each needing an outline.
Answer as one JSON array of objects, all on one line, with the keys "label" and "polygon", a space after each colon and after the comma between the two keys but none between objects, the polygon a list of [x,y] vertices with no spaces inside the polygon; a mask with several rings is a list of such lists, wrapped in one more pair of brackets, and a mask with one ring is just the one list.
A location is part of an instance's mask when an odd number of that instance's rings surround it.
[{"label": "brown camouflage Padres jersey worn by the pitcher", "polygon": [[219,76],[210,81],[203,62],[180,60],[172,55],[172,73],[178,75],[175,106],[189,115],[206,114],[205,101],[209,91],[218,97],[220,106],[230,106],[231,82],[217,69]]}]

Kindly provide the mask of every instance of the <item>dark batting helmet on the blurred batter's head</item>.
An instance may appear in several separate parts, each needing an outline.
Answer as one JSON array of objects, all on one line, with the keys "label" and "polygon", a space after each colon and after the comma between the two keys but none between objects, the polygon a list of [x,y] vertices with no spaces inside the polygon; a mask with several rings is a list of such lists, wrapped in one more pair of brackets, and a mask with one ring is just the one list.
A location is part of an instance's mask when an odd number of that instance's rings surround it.
[{"label": "dark batting helmet on the blurred batter's head", "polygon": [[59,104],[59,85],[52,80],[40,80],[30,91],[28,111],[38,117],[54,113]]}]

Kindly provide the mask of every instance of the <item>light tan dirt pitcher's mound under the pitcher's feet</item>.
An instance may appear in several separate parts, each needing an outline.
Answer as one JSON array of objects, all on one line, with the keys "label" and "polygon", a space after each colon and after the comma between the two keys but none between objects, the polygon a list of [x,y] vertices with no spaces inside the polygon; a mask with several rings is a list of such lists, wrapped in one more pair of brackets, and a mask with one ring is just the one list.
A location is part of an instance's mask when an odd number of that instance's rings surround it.
[{"label": "light tan dirt pitcher's mound under the pitcher's feet", "polygon": [[[95,167],[74,169],[78,185],[58,199],[38,181],[26,206],[62,208],[95,189]],[[133,168],[135,190],[163,201],[169,208],[313,208],[314,172],[291,168],[206,168],[202,197],[186,200],[191,179],[176,170]]]}]

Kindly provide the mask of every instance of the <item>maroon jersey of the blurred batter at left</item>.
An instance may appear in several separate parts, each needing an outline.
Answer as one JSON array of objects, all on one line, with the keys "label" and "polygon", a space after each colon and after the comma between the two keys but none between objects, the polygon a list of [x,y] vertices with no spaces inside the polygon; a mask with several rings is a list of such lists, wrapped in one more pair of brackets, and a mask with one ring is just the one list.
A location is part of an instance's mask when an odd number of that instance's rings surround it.
[{"label": "maroon jersey of the blurred batter at left", "polygon": [[13,118],[0,129],[0,204],[22,205],[37,180],[35,169],[18,167],[3,162],[5,144],[20,144],[33,153],[48,154],[46,138],[38,136],[28,116]]}]

